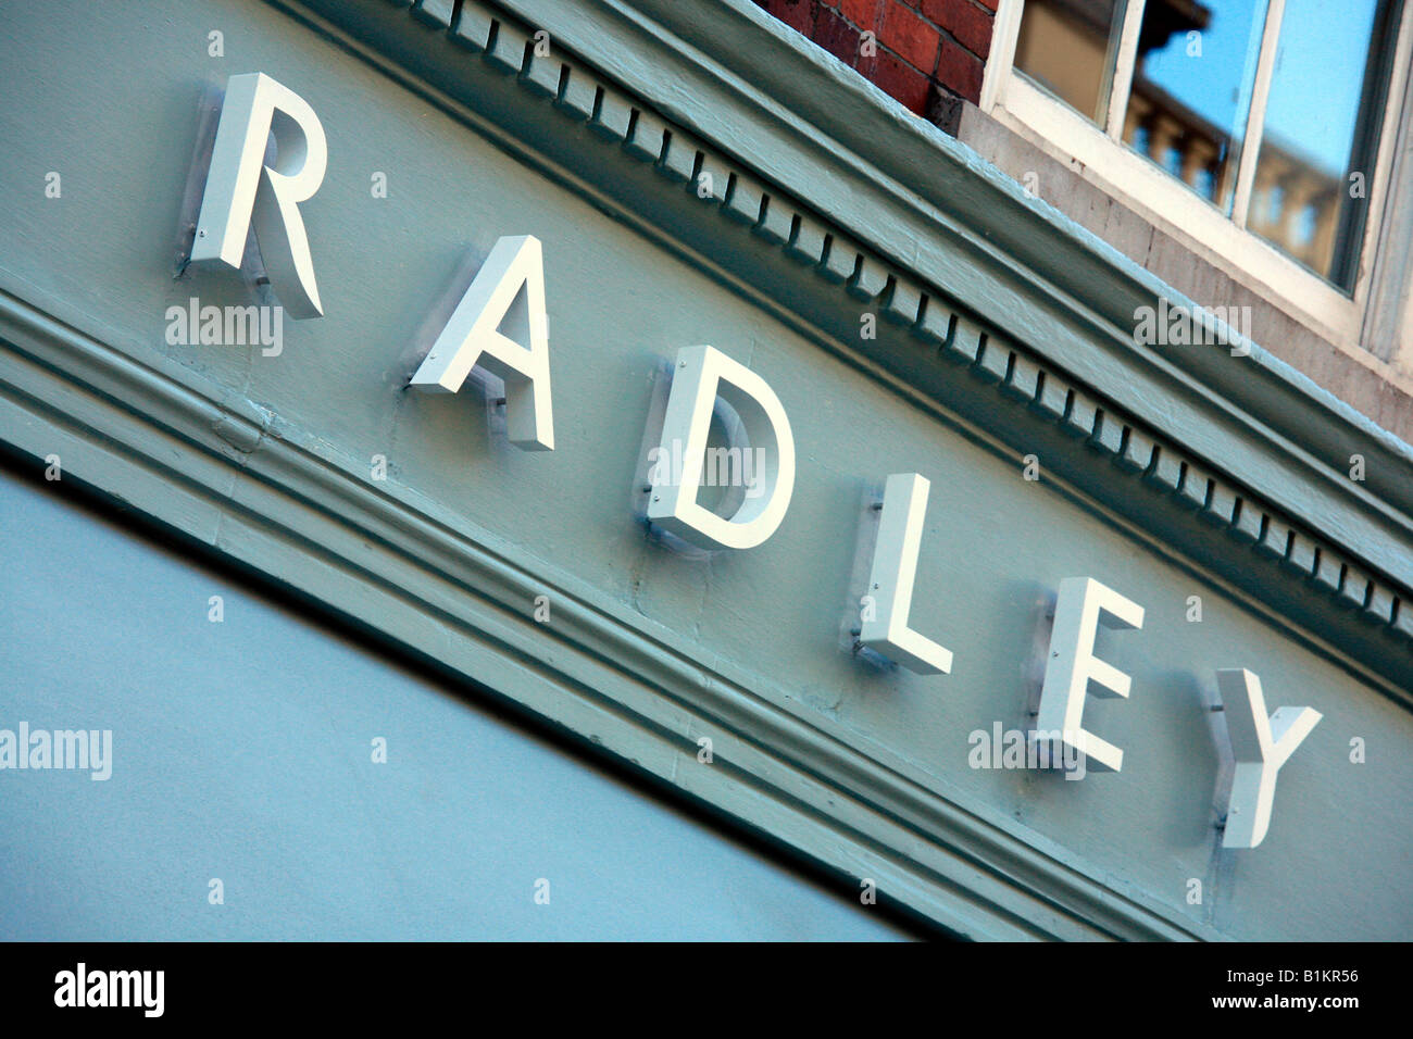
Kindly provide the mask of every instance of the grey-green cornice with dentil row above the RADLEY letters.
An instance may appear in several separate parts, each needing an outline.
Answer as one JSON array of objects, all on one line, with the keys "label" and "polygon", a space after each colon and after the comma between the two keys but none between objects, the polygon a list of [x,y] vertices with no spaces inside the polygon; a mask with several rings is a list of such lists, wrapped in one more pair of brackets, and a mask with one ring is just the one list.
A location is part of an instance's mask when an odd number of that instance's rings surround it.
[{"label": "grey-green cornice with dentil row above the RADLEY letters", "polygon": [[747,0],[276,1],[1413,704],[1413,450],[1259,344],[1137,345],[1191,303]]}]

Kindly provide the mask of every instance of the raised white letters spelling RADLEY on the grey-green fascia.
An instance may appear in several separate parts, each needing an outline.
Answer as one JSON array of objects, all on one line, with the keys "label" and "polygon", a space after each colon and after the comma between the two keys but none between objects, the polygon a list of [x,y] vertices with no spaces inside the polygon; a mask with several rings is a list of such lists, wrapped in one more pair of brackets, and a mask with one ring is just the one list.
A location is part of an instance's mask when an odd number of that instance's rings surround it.
[{"label": "raised white letters spelling RADLEY on the grey-green fascia", "polygon": [[[276,160],[267,165],[271,133]],[[264,74],[232,76],[191,262],[239,269],[253,229],[284,308],[295,318],[321,317],[298,206],[318,191],[326,158],[324,127],[302,98]],[[527,344],[499,331],[521,294],[528,312]],[[510,442],[552,451],[548,321],[541,247],[534,237],[502,237],[495,245],[411,386],[425,393],[458,393],[472,369],[504,382]],[[714,413],[726,417],[733,441],[755,465],[749,493],[728,493],[711,509],[698,499]],[[667,476],[654,468],[647,520],[675,539],[698,550],[745,551],[764,543],[784,520],[796,476],[790,420],[764,379],[721,351],[687,346],[678,352],[657,454],[674,458],[675,465]],[[952,653],[909,626],[928,489],[916,472],[893,474],[885,482],[859,642],[918,674],[947,674]],[[1099,625],[1140,629],[1143,606],[1091,577],[1061,581],[1039,714],[1029,734],[1048,752],[1040,758],[1051,766],[1072,768],[1075,755],[1091,770],[1119,772],[1123,766],[1121,748],[1084,728],[1088,695],[1129,695],[1129,676],[1095,656]],[[1270,823],[1276,775],[1321,715],[1310,707],[1282,707],[1267,715],[1260,680],[1245,669],[1218,670],[1217,686],[1235,759],[1222,844],[1255,848]]]}]

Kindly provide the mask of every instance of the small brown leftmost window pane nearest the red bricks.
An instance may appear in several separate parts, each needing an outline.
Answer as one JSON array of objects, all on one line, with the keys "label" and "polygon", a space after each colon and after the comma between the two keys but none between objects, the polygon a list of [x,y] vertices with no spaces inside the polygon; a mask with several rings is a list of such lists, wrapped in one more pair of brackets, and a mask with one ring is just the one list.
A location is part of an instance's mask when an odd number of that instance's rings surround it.
[{"label": "small brown leftmost window pane nearest the red bricks", "polygon": [[1122,0],[1026,0],[1016,68],[1104,126]]}]

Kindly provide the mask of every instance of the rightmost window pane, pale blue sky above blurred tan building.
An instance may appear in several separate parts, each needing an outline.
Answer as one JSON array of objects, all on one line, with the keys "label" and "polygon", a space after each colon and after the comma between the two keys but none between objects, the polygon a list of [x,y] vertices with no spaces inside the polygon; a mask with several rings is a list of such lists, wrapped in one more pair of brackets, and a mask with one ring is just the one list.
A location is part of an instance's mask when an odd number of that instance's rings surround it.
[{"label": "rightmost window pane, pale blue sky above blurred tan building", "polygon": [[1388,7],[1340,0],[1335,16],[1328,0],[1286,0],[1246,221],[1345,290],[1358,270],[1393,51]]}]

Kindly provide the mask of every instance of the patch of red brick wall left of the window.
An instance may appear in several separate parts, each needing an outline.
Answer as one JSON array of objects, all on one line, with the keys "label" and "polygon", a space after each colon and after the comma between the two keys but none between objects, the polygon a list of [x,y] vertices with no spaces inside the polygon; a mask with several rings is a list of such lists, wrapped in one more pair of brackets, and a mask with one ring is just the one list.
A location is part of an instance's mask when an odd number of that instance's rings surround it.
[{"label": "patch of red brick wall left of the window", "polygon": [[959,99],[981,98],[998,0],[756,3],[948,133],[957,133]]}]

